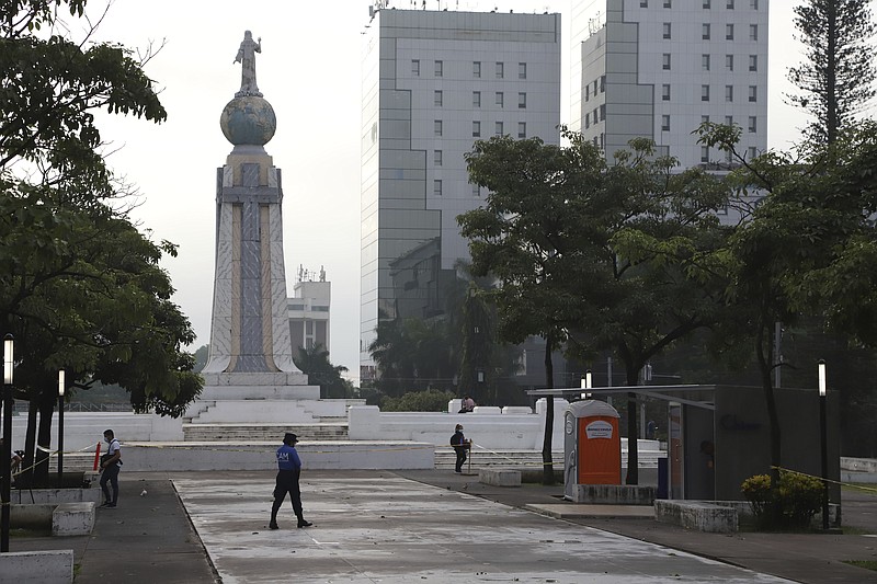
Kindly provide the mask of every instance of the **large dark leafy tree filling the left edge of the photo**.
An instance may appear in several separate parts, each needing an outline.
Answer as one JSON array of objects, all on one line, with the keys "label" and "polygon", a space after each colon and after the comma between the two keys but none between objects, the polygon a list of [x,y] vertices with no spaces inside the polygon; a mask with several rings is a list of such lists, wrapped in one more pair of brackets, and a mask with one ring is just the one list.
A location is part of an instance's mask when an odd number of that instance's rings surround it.
[{"label": "large dark leafy tree filling the left edge of the photo", "polygon": [[173,416],[203,383],[182,350],[194,333],[159,267],[175,247],[130,221],[94,125],[104,107],[167,117],[143,71],[151,54],[135,60],[118,45],[84,48],[88,39],[57,34],[61,12],[81,18],[86,3],[0,3],[0,322],[16,337],[31,459],[35,442],[48,444],[60,368],[71,388],[118,383],[136,411]]}]

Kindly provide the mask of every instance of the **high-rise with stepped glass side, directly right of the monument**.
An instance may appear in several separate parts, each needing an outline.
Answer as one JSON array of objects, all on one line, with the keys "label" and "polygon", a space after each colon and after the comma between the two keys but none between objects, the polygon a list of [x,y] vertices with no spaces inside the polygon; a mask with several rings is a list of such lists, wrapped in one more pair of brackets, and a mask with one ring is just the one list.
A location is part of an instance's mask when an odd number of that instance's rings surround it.
[{"label": "high-rise with stepped glass side, directly right of the monument", "polygon": [[441,317],[456,217],[483,204],[464,154],[494,135],[558,144],[560,15],[395,10],[366,27],[361,376],[379,319]]}]

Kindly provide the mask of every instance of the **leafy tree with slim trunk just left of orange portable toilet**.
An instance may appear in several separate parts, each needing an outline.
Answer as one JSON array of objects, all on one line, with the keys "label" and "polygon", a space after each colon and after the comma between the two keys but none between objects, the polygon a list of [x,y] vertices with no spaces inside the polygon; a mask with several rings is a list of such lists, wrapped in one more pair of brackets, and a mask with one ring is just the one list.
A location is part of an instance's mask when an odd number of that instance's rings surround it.
[{"label": "leafy tree with slim trunk just left of orange portable toilet", "polygon": [[[551,352],[566,341],[568,312],[574,307],[562,285],[570,277],[568,257],[584,248],[576,206],[595,183],[600,152],[582,141],[560,148],[540,138],[501,136],[476,141],[466,161],[471,182],[490,191],[483,207],[457,217],[469,239],[472,274],[498,283],[481,294],[498,308],[502,341],[545,339],[545,385],[550,389]],[[542,453],[545,484],[554,483],[553,426],[549,396]]]}]

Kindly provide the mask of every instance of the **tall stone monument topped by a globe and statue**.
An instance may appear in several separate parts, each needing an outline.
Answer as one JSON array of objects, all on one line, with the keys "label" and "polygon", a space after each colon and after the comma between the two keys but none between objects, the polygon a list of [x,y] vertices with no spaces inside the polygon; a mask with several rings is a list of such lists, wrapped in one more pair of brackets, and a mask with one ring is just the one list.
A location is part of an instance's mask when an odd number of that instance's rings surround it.
[{"label": "tall stone monument topped by a globe and statue", "polygon": [[319,398],[319,388],[307,386],[307,376],[293,363],[281,170],[264,149],[276,117],[255,84],[261,45],[247,31],[235,59],[241,64],[241,88],[220,117],[234,148],[216,173],[216,275],[202,375],[214,396],[314,398],[316,390]]}]

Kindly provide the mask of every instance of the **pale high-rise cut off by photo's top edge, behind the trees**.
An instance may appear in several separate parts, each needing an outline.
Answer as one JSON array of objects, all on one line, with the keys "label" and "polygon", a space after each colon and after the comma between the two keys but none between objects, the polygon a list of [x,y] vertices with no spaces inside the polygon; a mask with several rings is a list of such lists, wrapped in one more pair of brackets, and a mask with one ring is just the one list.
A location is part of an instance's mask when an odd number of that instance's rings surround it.
[{"label": "pale high-rise cut off by photo's top edge, behind the trees", "polygon": [[682,168],[722,168],[703,122],[734,123],[748,157],[767,146],[768,0],[573,0],[572,129],[606,152],[652,138]]}]

